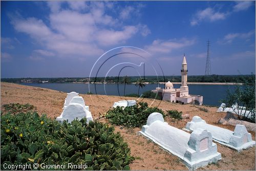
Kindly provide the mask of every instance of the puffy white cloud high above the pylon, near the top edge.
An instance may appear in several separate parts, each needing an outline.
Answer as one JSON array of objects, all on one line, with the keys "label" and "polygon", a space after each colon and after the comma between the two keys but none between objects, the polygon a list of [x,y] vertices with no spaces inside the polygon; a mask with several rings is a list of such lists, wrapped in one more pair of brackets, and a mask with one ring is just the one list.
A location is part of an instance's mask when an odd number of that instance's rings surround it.
[{"label": "puffy white cloud high above the pylon, near the top edge", "polygon": [[198,25],[199,22],[205,20],[210,22],[215,22],[216,20],[225,19],[228,13],[215,11],[213,8],[206,8],[204,10],[200,10],[196,13],[194,18],[190,21],[191,26]]}]

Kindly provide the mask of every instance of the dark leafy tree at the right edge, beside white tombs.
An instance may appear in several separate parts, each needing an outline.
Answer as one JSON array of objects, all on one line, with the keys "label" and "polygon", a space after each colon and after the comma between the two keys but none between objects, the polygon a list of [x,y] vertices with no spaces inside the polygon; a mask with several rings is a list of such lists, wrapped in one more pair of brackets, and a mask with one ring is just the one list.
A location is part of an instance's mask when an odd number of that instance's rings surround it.
[{"label": "dark leafy tree at the right edge, beside white tombs", "polygon": [[[241,82],[242,84],[239,84]],[[242,77],[234,91],[227,90],[226,106],[231,106],[238,119],[255,122],[255,74],[250,77]],[[249,111],[246,114],[245,111]],[[250,115],[250,117],[248,117]]]}]

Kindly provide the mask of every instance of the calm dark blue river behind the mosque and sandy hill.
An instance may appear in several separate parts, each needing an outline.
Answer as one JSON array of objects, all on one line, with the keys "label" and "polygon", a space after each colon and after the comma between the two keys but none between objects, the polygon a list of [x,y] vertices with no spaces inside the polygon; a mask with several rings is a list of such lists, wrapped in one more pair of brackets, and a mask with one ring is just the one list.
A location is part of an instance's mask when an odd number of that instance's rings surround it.
[{"label": "calm dark blue river behind the mosque and sandy hill", "polygon": [[[80,94],[87,94],[89,91],[88,83],[21,83],[26,86],[47,88],[62,92],[77,92]],[[96,88],[95,88],[96,85]],[[174,88],[179,88],[180,84],[174,84]],[[158,84],[146,84],[143,89],[140,89],[140,94],[145,91],[153,90],[158,87]],[[164,84],[159,84],[159,87],[164,88]],[[199,84],[190,84],[189,94],[191,95],[202,95],[203,104],[220,106],[220,99],[226,97],[226,91],[228,87],[232,90],[234,86],[227,85],[199,85]],[[118,93],[119,89],[119,93]],[[123,96],[124,84],[90,84],[90,92],[93,94],[99,95],[120,95]],[[138,94],[138,87],[135,84],[126,84],[125,94]]]}]

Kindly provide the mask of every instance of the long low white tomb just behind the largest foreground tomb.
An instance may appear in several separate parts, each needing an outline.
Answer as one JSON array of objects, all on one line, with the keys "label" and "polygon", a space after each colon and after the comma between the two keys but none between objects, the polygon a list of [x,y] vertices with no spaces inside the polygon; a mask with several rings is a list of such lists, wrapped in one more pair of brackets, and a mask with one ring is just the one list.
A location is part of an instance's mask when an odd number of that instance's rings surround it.
[{"label": "long low white tomb just behind the largest foreground tomb", "polygon": [[191,122],[187,122],[184,130],[196,131],[197,129],[209,131],[216,142],[237,149],[238,151],[255,144],[255,141],[251,139],[251,134],[247,132],[244,125],[237,124],[234,132],[232,132],[222,127],[207,124],[199,116],[194,116]]}]

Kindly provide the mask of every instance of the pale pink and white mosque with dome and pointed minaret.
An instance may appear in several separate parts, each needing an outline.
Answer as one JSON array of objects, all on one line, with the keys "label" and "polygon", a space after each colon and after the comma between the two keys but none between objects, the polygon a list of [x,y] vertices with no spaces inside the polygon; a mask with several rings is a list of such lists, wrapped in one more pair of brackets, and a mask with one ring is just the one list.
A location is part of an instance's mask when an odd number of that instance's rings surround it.
[{"label": "pale pink and white mosque with dome and pointed minaret", "polygon": [[164,89],[157,87],[156,90],[152,90],[152,92],[157,93],[162,100],[176,102],[176,103],[192,103],[197,105],[203,104],[203,96],[200,95],[190,95],[188,93],[187,86],[187,62],[184,54],[182,67],[181,67],[181,87],[180,89],[174,89],[173,83],[168,81],[165,83]]}]

